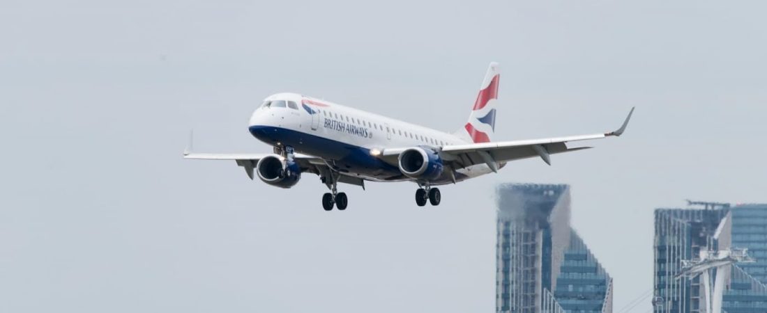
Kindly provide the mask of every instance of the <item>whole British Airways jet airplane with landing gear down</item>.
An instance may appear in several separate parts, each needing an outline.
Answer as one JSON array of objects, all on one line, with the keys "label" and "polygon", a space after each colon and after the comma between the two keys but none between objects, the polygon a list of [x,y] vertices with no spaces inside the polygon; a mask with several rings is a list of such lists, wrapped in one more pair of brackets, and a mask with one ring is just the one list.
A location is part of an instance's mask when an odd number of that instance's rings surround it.
[{"label": "whole British Airways jet airplane with landing gear down", "polygon": [[[482,81],[469,121],[457,132],[439,132],[298,93],[277,93],[264,99],[250,118],[249,131],[272,145],[273,154],[197,153],[184,158],[234,160],[250,179],[290,188],[301,174],[317,174],[331,192],[322,197],[324,210],[345,210],[348,199],[337,184],[364,189],[365,181],[410,181],[418,185],[416,204],[439,205],[434,187],[498,172],[508,161],[542,158],[591,147],[565,143],[623,134],[634,108],[614,132],[568,137],[493,141],[499,66],[491,63]],[[191,146],[191,143],[190,143]]]}]

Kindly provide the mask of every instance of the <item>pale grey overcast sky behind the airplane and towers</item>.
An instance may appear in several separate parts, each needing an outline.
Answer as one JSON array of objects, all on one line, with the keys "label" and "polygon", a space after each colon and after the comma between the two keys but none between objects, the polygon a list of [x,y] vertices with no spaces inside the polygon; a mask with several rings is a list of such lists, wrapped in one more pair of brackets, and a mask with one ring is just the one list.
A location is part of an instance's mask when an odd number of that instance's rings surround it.
[{"label": "pale grey overcast sky behind the airplane and towers", "polygon": [[[0,2],[0,311],[494,309],[499,182],[572,185],[573,224],[615,280],[652,285],[653,207],[765,202],[767,4]],[[499,139],[620,139],[443,187],[249,181],[196,149],[295,91],[451,131],[502,66]],[[646,302],[636,311],[650,309]]]}]

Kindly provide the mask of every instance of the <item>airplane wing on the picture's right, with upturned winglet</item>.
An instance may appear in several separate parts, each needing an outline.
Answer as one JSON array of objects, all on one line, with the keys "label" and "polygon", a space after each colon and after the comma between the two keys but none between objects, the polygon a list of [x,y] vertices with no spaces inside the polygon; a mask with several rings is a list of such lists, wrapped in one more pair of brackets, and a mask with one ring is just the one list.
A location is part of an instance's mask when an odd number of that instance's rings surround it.
[{"label": "airplane wing on the picture's right, with upturned winglet", "polygon": [[[439,152],[444,161],[449,162],[453,169],[467,168],[472,165],[486,164],[492,171],[498,171],[499,163],[514,161],[522,158],[540,157],[546,164],[551,165],[551,155],[564,152],[574,152],[591,147],[568,148],[567,142],[581,140],[603,139],[620,136],[626,130],[634,108],[628,113],[620,129],[614,132],[604,132],[591,135],[574,135],[558,138],[516,140],[509,142],[483,142],[466,145],[446,145]],[[397,158],[406,148],[387,149],[384,158]]]}]

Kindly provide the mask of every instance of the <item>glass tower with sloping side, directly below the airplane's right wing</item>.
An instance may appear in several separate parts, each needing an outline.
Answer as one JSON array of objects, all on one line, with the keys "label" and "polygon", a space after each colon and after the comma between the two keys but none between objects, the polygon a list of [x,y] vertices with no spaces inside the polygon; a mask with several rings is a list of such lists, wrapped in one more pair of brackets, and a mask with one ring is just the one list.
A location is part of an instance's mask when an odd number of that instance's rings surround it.
[{"label": "glass tower with sloping side, directly below the airplane's right wing", "polygon": [[497,189],[495,311],[612,312],[612,279],[570,226],[565,184]]}]

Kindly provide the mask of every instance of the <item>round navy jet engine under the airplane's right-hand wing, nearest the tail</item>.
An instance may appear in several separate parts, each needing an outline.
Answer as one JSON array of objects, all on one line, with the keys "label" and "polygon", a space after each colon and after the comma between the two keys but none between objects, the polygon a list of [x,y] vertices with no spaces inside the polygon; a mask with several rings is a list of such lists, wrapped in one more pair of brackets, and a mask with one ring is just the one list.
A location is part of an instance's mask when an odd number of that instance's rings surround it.
[{"label": "round navy jet engine under the airplane's right-hand wing, nearest the tail", "polygon": [[442,175],[443,164],[439,153],[428,147],[409,148],[398,158],[400,171],[409,178],[436,179]]}]

